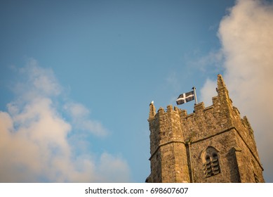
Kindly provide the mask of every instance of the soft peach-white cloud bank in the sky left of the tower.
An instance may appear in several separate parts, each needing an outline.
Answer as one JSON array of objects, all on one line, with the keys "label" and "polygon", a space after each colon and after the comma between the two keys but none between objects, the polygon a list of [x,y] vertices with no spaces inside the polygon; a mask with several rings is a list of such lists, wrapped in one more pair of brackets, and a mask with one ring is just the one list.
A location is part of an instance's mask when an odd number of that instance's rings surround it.
[{"label": "soft peach-white cloud bank in the sky left of the tower", "polygon": [[7,111],[0,111],[0,182],[130,181],[122,157],[109,153],[95,157],[90,150],[79,149],[88,144],[84,137],[105,136],[107,129],[91,120],[81,103],[60,106],[62,87],[52,70],[32,59],[16,72],[20,75],[20,82],[13,84],[16,98]]}]

